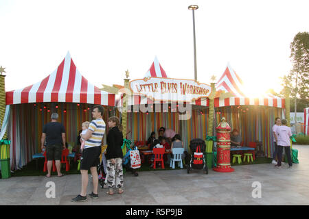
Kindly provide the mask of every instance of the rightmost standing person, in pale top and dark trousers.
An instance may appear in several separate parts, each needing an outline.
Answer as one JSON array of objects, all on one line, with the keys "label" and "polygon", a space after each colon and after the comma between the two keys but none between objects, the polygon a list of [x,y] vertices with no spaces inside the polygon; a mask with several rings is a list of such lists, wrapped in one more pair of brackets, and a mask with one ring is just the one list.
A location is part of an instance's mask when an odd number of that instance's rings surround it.
[{"label": "rightmost standing person, in pale top and dark trousers", "polygon": [[278,145],[278,168],[282,168],[282,152],[283,148],[288,157],[288,167],[292,168],[292,157],[290,156],[290,136],[292,136],[292,131],[290,127],[286,126],[286,120],[282,120],[282,126],[277,127],[276,134],[278,136],[277,145]]}]

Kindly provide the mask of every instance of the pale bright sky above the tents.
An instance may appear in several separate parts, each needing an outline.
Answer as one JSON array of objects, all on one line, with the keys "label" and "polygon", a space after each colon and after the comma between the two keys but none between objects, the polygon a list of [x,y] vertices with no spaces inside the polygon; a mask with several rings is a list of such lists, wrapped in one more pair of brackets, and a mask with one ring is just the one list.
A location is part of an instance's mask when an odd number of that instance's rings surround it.
[{"label": "pale bright sky above the tents", "polygon": [[282,90],[290,42],[309,31],[309,1],[14,1],[0,0],[0,66],[5,90],[51,74],[69,51],[99,88],[143,78],[155,56],[168,77],[194,79],[193,25],[198,5],[198,81],[218,80],[227,63],[247,91]]}]

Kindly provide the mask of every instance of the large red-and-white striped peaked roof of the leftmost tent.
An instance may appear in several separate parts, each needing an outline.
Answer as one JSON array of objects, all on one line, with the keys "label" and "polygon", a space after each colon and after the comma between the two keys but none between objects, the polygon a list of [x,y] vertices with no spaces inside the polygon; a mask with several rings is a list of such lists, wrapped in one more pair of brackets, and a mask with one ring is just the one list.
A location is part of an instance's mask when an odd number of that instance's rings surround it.
[{"label": "large red-and-white striped peaked roof of the leftmost tent", "polygon": [[115,94],[102,91],[89,83],[76,68],[69,52],[58,68],[45,79],[5,93],[7,105],[62,102],[115,106]]}]

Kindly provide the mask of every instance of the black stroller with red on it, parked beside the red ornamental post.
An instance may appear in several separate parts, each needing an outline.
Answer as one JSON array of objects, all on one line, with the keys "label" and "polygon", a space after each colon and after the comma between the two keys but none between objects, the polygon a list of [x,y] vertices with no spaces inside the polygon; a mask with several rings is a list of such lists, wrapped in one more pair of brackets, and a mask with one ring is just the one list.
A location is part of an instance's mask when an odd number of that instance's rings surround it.
[{"label": "black stroller with red on it, parked beside the red ornamental post", "polygon": [[[196,152],[196,149],[198,148],[198,146],[200,146],[201,149],[201,153],[203,153],[203,164],[194,164],[194,152]],[[201,138],[194,138],[190,141],[190,149],[192,152],[191,155],[191,159],[190,159],[190,163],[187,166],[187,173],[189,174],[190,171],[192,171],[192,169],[198,169],[201,170],[203,169],[203,172],[205,174],[208,174],[208,167],[207,164],[205,162],[205,149],[206,149],[206,145],[205,145],[205,141]]]}]

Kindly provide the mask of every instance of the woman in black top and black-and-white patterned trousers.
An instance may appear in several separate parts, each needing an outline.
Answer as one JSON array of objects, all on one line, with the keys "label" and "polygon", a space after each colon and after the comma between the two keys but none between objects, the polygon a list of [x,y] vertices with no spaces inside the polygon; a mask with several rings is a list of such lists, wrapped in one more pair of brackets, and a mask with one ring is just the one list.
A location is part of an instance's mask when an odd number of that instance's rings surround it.
[{"label": "woman in black top and black-and-white patterned trousers", "polygon": [[108,118],[108,127],[110,128],[107,135],[107,175],[106,184],[108,186],[107,194],[113,194],[113,187],[118,188],[118,193],[122,194],[124,190],[124,175],[122,172],[122,127],[119,118]]}]

